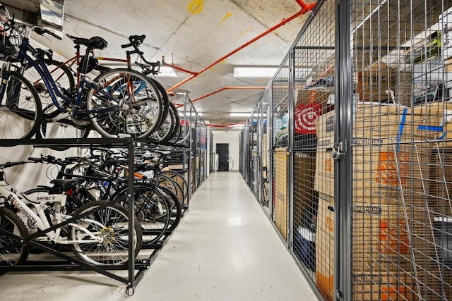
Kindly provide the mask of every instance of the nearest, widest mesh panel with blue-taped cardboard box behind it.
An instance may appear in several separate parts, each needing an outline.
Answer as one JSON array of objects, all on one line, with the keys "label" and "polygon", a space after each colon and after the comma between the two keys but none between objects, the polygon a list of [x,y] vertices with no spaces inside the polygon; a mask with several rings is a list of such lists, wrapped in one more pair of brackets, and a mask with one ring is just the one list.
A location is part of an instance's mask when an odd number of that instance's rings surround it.
[{"label": "nearest, widest mesh panel with blue-taped cardboard box behind it", "polygon": [[451,300],[452,1],[352,1],[352,297]]}]

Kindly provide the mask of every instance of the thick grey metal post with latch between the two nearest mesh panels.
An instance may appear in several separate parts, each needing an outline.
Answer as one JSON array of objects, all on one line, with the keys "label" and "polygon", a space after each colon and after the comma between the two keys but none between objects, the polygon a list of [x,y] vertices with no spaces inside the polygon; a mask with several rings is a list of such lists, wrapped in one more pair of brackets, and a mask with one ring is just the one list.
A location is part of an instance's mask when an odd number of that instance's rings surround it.
[{"label": "thick grey metal post with latch between the two nearest mesh panels", "polygon": [[335,300],[352,300],[352,53],[351,1],[336,1],[335,9]]}]

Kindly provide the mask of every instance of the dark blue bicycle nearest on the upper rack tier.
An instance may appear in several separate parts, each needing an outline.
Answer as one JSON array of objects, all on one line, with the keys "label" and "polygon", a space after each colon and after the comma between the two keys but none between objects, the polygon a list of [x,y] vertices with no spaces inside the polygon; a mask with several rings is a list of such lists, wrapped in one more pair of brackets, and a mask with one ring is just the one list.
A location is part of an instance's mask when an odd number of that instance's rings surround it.
[{"label": "dark blue bicycle nearest on the upper rack tier", "polygon": [[[2,11],[6,11],[6,8]],[[110,138],[143,138],[157,129],[158,116],[162,112],[160,93],[145,75],[118,68],[101,73],[91,80],[86,75],[86,60],[76,94],[61,92],[42,54],[30,45],[30,33],[34,31],[38,35],[61,37],[42,27],[16,23],[7,11],[5,18],[8,22],[4,23],[4,34],[15,37],[20,44],[16,44],[17,55],[8,54],[1,71],[0,127],[3,129],[3,138],[30,138],[42,122],[59,122],[78,127],[91,124],[102,136]],[[93,49],[107,47],[107,42],[101,37],[76,39],[74,42],[86,47],[86,57]],[[57,116],[43,116],[35,87],[20,72],[12,70],[13,63],[21,64],[22,73],[30,66],[37,70],[52,104],[58,109]]]}]

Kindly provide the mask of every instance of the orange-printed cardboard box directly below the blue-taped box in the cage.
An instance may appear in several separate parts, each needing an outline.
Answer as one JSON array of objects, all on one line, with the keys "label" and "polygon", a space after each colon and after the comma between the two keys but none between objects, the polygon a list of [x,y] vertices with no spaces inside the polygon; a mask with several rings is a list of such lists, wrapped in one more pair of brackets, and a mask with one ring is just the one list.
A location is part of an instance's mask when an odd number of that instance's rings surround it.
[{"label": "orange-printed cardboard box directly below the blue-taped box in the cage", "polygon": [[355,203],[352,232],[355,271],[413,271],[417,262],[412,257],[412,248],[425,247],[422,240],[415,239],[427,235],[421,224],[425,218],[426,213],[420,207]]}]

